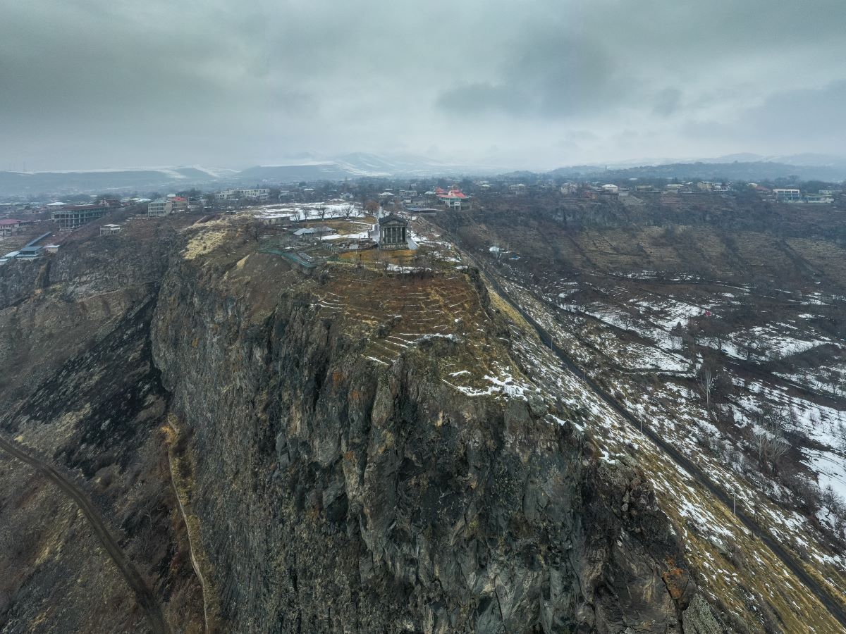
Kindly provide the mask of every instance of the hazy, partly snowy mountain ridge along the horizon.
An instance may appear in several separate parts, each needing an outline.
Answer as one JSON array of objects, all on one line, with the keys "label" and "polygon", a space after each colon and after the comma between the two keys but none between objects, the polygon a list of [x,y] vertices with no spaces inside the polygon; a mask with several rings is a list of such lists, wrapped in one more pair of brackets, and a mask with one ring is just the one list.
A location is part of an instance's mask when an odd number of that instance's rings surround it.
[{"label": "hazy, partly snowy mountain ridge along the horizon", "polygon": [[[298,156],[277,165],[256,165],[243,170],[218,167],[138,167],[126,169],[64,170],[54,172],[0,172],[0,196],[40,196],[71,193],[128,194],[152,191],[222,189],[236,185],[339,181],[355,178],[423,178],[485,175],[503,168],[434,161],[425,156],[376,155],[354,152],[321,160]],[[530,171],[514,172],[537,173]],[[711,159],[645,159],[606,165],[559,167],[545,172],[563,178],[705,178],[708,180],[766,180],[795,177],[799,180],[842,181],[846,158],[820,154],[760,156],[734,154]]]}]

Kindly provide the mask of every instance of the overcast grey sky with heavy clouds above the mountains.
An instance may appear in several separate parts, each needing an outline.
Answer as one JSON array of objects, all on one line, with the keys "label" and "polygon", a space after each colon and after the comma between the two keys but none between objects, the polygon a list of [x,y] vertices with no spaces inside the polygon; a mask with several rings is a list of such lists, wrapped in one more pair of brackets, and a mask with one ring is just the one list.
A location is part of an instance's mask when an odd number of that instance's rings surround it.
[{"label": "overcast grey sky with heavy clouds above the mountains", "polygon": [[0,3],[0,169],[846,154],[843,0]]}]

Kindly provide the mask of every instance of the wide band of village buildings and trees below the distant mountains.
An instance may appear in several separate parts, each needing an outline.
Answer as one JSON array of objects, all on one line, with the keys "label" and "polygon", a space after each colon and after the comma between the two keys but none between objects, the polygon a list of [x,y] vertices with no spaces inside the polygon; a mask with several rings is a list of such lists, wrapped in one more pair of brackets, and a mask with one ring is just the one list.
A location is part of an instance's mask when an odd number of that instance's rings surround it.
[{"label": "wide band of village buildings and trees below the distant mountains", "polygon": [[[676,181],[678,179],[673,179]],[[524,182],[525,181],[525,182]],[[748,199],[754,194],[762,203],[779,205],[826,205],[832,213],[846,206],[843,190],[835,184],[808,183],[812,189],[784,183],[727,183],[710,181],[669,182],[667,179],[634,179],[621,182],[576,182],[561,178],[499,177],[489,180],[463,178],[409,181],[316,182],[253,188],[229,188],[214,192],[190,189],[173,194],[150,193],[115,198],[107,195],[66,194],[66,199],[15,199],[0,202],[0,264],[9,260],[34,260],[56,253],[63,239],[80,227],[96,224],[104,236],[116,235],[125,221],[197,214],[209,218],[220,214],[249,212],[267,225],[299,223],[297,238],[325,239],[341,250],[374,248],[382,238],[379,216],[398,218],[434,215],[440,211],[499,208],[510,203],[525,205],[543,199],[562,209],[580,201],[618,199],[628,207],[657,202],[678,208],[692,197]],[[824,185],[824,186],[820,186]],[[588,214],[591,212],[588,211]],[[371,227],[363,235],[338,233],[322,221],[368,215]],[[321,226],[312,227],[315,221]],[[333,234],[329,238],[329,234]],[[344,238],[344,239],[341,239]],[[410,240],[410,234],[409,234]],[[409,241],[409,244],[413,242]],[[493,245],[500,249],[498,245]]]}]

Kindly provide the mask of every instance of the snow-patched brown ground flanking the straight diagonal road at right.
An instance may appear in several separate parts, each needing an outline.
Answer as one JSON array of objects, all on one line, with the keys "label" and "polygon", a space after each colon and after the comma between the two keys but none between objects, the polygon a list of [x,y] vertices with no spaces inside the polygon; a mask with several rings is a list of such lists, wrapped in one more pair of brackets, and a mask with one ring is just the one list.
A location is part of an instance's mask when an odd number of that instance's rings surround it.
[{"label": "snow-patched brown ground flanking the straight diagonal road at right", "polygon": [[[766,380],[766,374],[764,378],[750,380],[748,376],[739,375],[739,369],[726,365],[721,376],[732,385],[732,396],[727,397],[728,403],[718,403],[713,413],[709,413],[694,374],[690,372],[691,366],[699,366],[702,362],[701,355],[691,361],[688,354],[679,353],[678,338],[669,336],[676,323],[680,321],[684,326],[687,320],[703,316],[706,309],[713,311],[715,319],[720,319],[721,305],[738,301],[737,298],[744,294],[743,289],[715,293],[707,302],[701,297],[693,302],[685,302],[683,298],[653,301],[639,297],[629,303],[629,308],[636,306],[637,310],[629,311],[624,309],[622,301],[597,302],[596,294],[591,296],[591,303],[580,304],[574,285],[564,286],[563,281],[551,285],[554,292],[542,296],[546,301],[537,298],[541,294],[539,289],[530,291],[513,281],[500,281],[508,289],[509,296],[519,301],[587,374],[608,385],[607,390],[617,395],[630,413],[689,456],[711,482],[728,495],[736,496],[738,507],[758,518],[758,523],[773,538],[800,554],[799,559],[812,562],[823,577],[835,580],[846,576],[846,558],[827,545],[831,533],[821,532],[821,525],[834,532],[842,530],[842,526],[838,527],[833,521],[830,509],[823,506],[816,517],[799,513],[794,508],[795,495],[777,478],[758,470],[754,464],[752,440],[746,440],[762,433],[756,420],[767,407],[787,413],[790,422],[786,431],[792,434],[789,437],[805,438],[800,441],[799,449],[807,476],[821,492],[830,486],[835,496],[846,500],[846,457],[838,440],[840,427],[846,426],[846,411],[827,404],[825,399],[820,401],[813,394],[803,396],[790,385],[782,385],[778,376],[772,376],[772,381]],[[587,319],[586,314],[593,315],[596,320]],[[761,355],[762,360],[765,356],[784,358],[802,353],[823,343],[842,343],[812,329],[799,331],[790,325],[785,321],[751,327],[743,332],[760,336],[760,345],[766,351],[766,355]],[[640,341],[631,341],[633,336]],[[728,345],[723,342],[726,357],[741,358],[729,352],[731,336],[728,342]],[[706,343],[700,341],[700,345]],[[712,577],[721,585],[739,576],[748,579],[750,574],[769,577],[767,584],[783,583],[790,578],[786,574],[783,581],[777,581],[783,571],[776,571],[773,559],[761,552],[760,544],[750,547],[745,570],[728,564],[718,554],[730,548],[741,548],[740,544],[749,538],[747,530],[733,521],[731,510],[716,504],[710,494],[640,435],[638,429],[621,420],[593,396],[579,377],[561,369],[554,371],[551,366],[556,363],[555,359],[545,347],[537,343],[532,346],[524,337],[519,353],[526,355],[524,363],[538,368],[532,376],[543,377],[544,396],[569,410],[562,424],[565,420],[573,420],[575,415],[579,420],[577,426],[591,435],[602,460],[626,461],[626,456],[634,453],[634,460],[640,467],[649,465],[647,477],[659,493],[662,507],[668,515],[677,518],[685,537],[696,544],[693,548],[700,549],[697,563],[706,578]],[[651,379],[644,381],[643,370],[650,368],[654,369]],[[641,372],[634,369],[641,369]],[[728,429],[730,433],[716,424],[713,416],[718,412],[731,413],[735,428]],[[843,533],[840,539],[843,540]],[[840,582],[831,583],[832,588],[838,588]],[[805,609],[799,609],[798,604],[796,609],[801,619]]]}]

